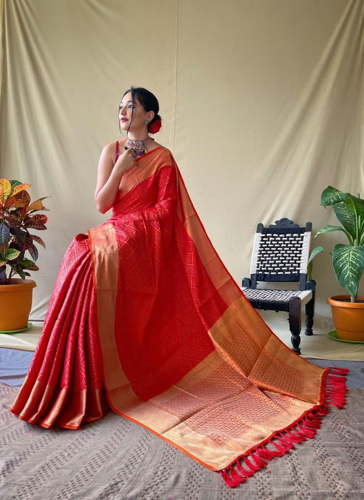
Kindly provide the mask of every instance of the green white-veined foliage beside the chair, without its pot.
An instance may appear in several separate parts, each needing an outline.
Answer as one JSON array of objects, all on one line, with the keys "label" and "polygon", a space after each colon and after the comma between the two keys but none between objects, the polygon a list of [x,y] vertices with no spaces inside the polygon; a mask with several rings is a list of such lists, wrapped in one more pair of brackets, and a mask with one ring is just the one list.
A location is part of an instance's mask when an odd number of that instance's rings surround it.
[{"label": "green white-veined foliage beside the chair, without its pot", "polygon": [[312,279],[312,259],[321,252],[330,253],[336,279],[351,296],[351,302],[357,302],[359,282],[364,270],[364,199],[349,192],[339,191],[328,186],[321,194],[321,205],[325,208],[333,205],[335,214],[342,225],[326,225],[315,234],[342,231],[348,244],[337,243],[333,251],[316,246],[310,255],[308,277]]}]

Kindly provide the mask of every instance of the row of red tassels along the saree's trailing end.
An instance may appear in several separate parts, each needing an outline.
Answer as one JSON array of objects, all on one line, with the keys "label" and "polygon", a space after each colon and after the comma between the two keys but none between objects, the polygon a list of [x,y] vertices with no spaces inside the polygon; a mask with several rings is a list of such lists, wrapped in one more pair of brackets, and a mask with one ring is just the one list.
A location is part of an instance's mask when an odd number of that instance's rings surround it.
[{"label": "row of red tassels along the saree's trailing end", "polygon": [[[321,418],[326,415],[328,409],[326,403],[330,403],[338,408],[344,407],[346,403],[345,393],[348,390],[345,385],[345,375],[348,371],[348,368],[329,368],[326,374],[325,403],[309,410],[292,427],[276,432],[268,442],[257,446],[246,456],[239,457],[228,467],[219,470],[227,486],[229,488],[238,486],[238,484],[246,481],[257,470],[265,467],[273,457],[282,456],[294,448],[296,444],[305,441],[307,438],[312,438],[316,434],[317,429],[320,428]],[[277,439],[278,442],[274,439]],[[273,444],[276,449],[267,448],[267,444]],[[239,462],[240,458],[243,459],[243,464],[246,465],[246,468],[242,467],[242,464]],[[234,465],[237,470],[234,469]]]}]

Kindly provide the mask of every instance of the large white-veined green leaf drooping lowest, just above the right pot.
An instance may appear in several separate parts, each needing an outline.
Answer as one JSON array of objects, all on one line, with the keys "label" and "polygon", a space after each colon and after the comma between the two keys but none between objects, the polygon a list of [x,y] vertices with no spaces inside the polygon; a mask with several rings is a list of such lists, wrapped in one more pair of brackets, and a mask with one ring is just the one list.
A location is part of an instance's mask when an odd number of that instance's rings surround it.
[{"label": "large white-veined green leaf drooping lowest, just above the right pot", "polygon": [[364,246],[338,243],[333,250],[333,266],[338,282],[356,297],[364,270]]}]

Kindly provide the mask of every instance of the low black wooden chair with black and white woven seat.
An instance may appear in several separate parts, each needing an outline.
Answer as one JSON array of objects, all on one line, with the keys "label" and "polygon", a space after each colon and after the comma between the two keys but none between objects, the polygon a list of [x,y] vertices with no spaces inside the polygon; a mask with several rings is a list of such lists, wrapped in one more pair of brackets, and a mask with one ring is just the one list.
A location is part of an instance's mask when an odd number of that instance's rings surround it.
[{"label": "low black wooden chair with black and white woven seat", "polygon": [[[288,218],[257,225],[250,278],[241,289],[256,309],[288,311],[292,350],[301,354],[301,307],[305,305],[306,335],[313,335],[316,281],[307,280],[312,222],[300,227]],[[257,288],[259,281],[297,281],[298,290]]]}]

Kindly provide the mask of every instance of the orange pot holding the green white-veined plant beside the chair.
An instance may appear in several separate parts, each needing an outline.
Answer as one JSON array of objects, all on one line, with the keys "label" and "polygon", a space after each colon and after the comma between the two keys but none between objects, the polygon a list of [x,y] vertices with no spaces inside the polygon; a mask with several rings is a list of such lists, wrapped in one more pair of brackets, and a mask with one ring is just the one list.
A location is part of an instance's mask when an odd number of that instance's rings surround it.
[{"label": "orange pot holding the green white-veined plant beside the chair", "polygon": [[[364,341],[364,302],[343,302],[350,295],[333,295],[328,298],[338,338]],[[364,295],[358,295],[364,300]]]}]

